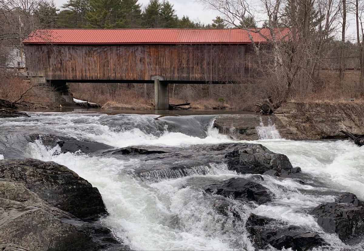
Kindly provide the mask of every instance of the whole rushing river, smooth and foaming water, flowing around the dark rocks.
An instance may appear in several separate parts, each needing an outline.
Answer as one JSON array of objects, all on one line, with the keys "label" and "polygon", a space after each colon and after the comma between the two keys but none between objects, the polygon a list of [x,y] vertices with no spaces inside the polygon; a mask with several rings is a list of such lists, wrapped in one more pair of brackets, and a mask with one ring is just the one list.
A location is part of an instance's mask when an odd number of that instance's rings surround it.
[{"label": "whole rushing river, smooth and foaming water, flowing around the dark rocks", "polygon": [[[101,219],[116,236],[135,250],[254,250],[245,222],[250,213],[268,216],[317,232],[331,246],[323,250],[357,250],[325,233],[308,211],[333,202],[344,191],[364,200],[364,147],[348,141],[293,141],[280,139],[274,125],[258,129],[269,150],[288,156],[300,166],[305,183],[292,178],[262,175],[260,183],[274,194],[272,202],[257,205],[225,199],[242,220],[219,214],[219,196],[207,196],[201,186],[232,177],[249,178],[224,164],[201,164],[178,175],[154,171],[138,176],[142,160],[131,156],[61,153],[29,135],[53,134],[107,144],[114,148],[159,146],[169,149],[236,142],[213,128],[215,115],[160,116],[82,112],[31,112],[31,117],[0,119],[0,159],[36,158],[63,164],[97,187],[110,213]],[[161,161],[161,160],[158,160]],[[178,160],[175,160],[178,162]],[[149,160],[152,166],[157,160]],[[183,163],[182,163],[183,164]],[[163,173],[164,172],[164,173]],[[149,176],[148,176],[149,175]],[[173,178],[170,178],[173,177]],[[212,182],[211,182],[212,181]]]}]

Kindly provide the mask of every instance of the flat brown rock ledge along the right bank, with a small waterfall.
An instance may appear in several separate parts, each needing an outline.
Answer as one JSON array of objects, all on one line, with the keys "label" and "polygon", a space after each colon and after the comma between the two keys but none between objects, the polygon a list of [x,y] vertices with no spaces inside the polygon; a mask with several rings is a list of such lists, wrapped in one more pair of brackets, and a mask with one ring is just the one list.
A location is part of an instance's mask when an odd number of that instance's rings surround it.
[{"label": "flat brown rock ledge along the right bank, with a small waterfall", "polygon": [[275,125],[281,138],[342,139],[340,130],[364,134],[364,104],[341,102],[285,103],[272,115],[221,115],[214,127],[236,140],[259,139],[257,127]]}]

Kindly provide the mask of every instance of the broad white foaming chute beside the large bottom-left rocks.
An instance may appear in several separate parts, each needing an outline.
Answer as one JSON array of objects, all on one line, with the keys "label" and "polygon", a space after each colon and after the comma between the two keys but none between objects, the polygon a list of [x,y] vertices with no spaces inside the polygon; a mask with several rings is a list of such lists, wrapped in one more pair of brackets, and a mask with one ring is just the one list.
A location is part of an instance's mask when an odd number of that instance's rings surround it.
[{"label": "broad white foaming chute beside the large bottom-left rocks", "polygon": [[[98,187],[110,213],[104,223],[132,249],[232,250],[226,238],[235,237],[223,235],[216,220],[222,216],[213,214],[214,208],[208,201],[201,202],[202,191],[180,189],[183,179],[171,180],[169,185],[167,181],[147,185],[125,174],[131,163],[51,152],[40,144],[29,144],[33,157],[64,164]],[[179,221],[174,222],[175,219]]]}]

